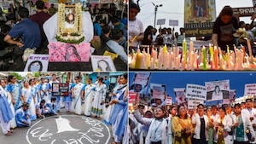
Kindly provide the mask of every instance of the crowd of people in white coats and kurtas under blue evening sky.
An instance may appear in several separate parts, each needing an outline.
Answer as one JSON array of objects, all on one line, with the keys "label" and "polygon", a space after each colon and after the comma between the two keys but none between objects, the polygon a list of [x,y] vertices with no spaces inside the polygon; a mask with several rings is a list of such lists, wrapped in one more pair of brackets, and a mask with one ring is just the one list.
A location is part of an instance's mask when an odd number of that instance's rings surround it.
[{"label": "crowd of people in white coats and kurtas under blue evening sky", "polygon": [[[159,99],[160,100],[160,99]],[[129,114],[130,143],[146,144],[249,144],[255,143],[256,109],[253,99],[233,107],[199,104],[154,107],[134,103]]]}]

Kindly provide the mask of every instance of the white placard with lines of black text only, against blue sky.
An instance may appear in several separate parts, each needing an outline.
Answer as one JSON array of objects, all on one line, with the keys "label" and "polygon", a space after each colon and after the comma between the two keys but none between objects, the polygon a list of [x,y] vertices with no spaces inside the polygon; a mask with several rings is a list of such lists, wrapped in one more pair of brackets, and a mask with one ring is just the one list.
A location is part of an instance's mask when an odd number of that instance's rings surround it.
[{"label": "white placard with lines of black text only, against blue sky", "polygon": [[207,100],[207,87],[197,84],[187,84],[186,98]]}]

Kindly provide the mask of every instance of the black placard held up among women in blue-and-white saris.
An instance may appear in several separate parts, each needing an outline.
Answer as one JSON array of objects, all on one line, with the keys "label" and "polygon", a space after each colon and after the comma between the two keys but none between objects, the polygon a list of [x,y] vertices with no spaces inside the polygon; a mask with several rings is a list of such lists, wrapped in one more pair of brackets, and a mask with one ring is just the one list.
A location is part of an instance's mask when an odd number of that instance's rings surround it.
[{"label": "black placard held up among women in blue-and-white saris", "polygon": [[54,96],[68,96],[69,84],[52,84],[52,95]]}]

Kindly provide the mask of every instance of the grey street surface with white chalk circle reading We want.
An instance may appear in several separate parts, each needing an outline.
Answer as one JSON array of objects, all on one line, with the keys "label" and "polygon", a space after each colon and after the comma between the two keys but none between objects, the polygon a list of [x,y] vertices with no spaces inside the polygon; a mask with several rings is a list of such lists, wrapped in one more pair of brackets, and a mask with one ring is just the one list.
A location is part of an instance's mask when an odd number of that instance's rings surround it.
[{"label": "grey street surface with white chalk circle reading We want", "polygon": [[111,127],[102,120],[74,114],[61,109],[60,117],[32,122],[30,128],[16,128],[13,135],[0,135],[4,144],[109,144],[113,141]]}]

